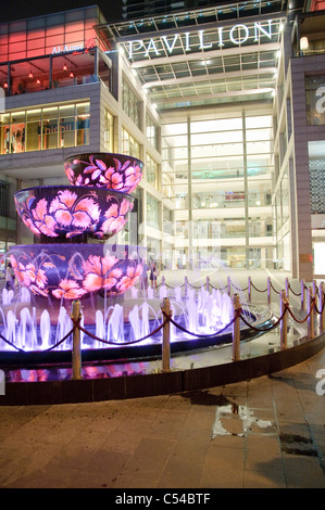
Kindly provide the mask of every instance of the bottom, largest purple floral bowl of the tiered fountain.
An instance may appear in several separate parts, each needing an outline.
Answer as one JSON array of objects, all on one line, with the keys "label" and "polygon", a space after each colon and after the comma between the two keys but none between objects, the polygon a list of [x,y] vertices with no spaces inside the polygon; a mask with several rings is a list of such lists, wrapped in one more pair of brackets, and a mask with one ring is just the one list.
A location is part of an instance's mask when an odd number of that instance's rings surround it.
[{"label": "bottom, largest purple floral bowl of the tiered fountain", "polygon": [[137,246],[123,246],[116,256],[99,244],[22,245],[11,248],[10,260],[22,285],[59,299],[79,299],[100,290],[121,295],[142,270]]}]

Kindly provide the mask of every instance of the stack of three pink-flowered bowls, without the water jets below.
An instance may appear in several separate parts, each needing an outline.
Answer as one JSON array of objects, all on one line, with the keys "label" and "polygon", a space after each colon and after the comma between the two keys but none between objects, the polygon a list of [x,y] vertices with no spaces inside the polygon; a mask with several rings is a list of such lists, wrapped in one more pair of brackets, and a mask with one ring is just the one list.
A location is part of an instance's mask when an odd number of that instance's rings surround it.
[{"label": "stack of three pink-flowered bowls, without the water jets below", "polygon": [[142,270],[138,246],[105,241],[126,225],[142,167],[127,155],[79,154],[64,162],[70,186],[17,191],[16,211],[40,240],[9,252],[22,286],[54,301],[118,296],[133,286]]}]

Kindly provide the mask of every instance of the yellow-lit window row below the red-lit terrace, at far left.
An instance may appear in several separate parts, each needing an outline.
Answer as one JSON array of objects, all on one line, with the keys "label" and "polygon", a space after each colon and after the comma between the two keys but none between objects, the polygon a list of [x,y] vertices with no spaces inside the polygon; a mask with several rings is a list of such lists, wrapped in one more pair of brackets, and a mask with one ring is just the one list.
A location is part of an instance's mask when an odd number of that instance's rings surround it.
[{"label": "yellow-lit window row below the red-lit terrace, at far left", "polygon": [[0,115],[0,154],[89,144],[89,102]]}]

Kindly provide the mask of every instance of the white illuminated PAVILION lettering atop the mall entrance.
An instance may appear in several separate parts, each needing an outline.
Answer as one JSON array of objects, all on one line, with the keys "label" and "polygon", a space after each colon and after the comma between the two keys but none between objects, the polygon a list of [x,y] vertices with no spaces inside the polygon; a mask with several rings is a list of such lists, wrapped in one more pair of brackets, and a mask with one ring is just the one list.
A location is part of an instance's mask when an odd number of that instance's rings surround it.
[{"label": "white illuminated PAVILION lettering atop the mall entrance", "polygon": [[155,56],[164,55],[165,52],[172,55],[177,48],[179,49],[179,43],[186,52],[191,52],[222,49],[226,46],[225,41],[227,41],[227,48],[229,43],[238,47],[247,41],[251,43],[271,41],[273,36],[272,27],[273,21],[268,20],[263,25],[255,22],[250,26],[239,24],[230,28],[218,27],[213,34],[209,30],[209,40],[205,30],[198,30],[197,33],[177,33],[170,37],[160,35],[151,39],[130,40],[125,44],[129,59],[147,59],[152,54]]}]

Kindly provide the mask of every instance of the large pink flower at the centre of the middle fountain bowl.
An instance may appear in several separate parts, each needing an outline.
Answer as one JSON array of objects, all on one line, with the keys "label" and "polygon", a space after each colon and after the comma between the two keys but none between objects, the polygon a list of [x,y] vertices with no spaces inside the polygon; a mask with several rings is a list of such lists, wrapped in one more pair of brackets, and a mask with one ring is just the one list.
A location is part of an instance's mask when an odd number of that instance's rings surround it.
[{"label": "large pink flower at the centre of the middle fountain bowl", "polygon": [[50,205],[58,224],[70,229],[66,237],[73,237],[91,225],[98,222],[100,216],[99,205],[93,199],[86,196],[77,200],[77,194],[70,190],[59,191]]}]

